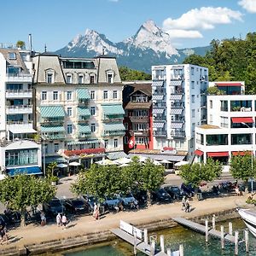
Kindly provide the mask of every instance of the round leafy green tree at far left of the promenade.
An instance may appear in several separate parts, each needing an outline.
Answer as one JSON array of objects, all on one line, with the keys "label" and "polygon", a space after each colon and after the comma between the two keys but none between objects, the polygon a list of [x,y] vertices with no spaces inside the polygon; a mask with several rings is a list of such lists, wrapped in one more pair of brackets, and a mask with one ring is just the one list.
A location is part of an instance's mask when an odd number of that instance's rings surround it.
[{"label": "round leafy green tree at far left of the promenade", "polygon": [[25,225],[27,207],[37,207],[55,194],[55,187],[44,178],[17,175],[0,181],[0,201],[9,209],[21,212],[22,225]]}]

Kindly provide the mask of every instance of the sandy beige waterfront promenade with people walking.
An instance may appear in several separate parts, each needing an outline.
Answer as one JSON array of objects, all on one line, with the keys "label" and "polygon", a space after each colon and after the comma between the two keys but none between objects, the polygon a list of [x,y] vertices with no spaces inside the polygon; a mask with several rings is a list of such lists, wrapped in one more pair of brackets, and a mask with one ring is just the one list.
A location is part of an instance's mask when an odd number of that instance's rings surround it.
[{"label": "sandy beige waterfront promenade with people walking", "polygon": [[100,220],[94,220],[92,216],[81,216],[71,220],[67,224],[67,230],[62,230],[55,223],[42,227],[38,224],[29,224],[24,228],[18,227],[9,230],[9,244],[2,247],[22,247],[28,244],[39,244],[45,241],[62,240],[75,236],[84,236],[91,233],[100,233],[119,226],[119,220],[123,219],[134,225],[149,224],[173,217],[193,218],[205,214],[223,212],[245,205],[247,196],[230,196],[212,198],[205,201],[191,201],[192,212],[183,212],[181,202],[168,205],[154,205],[138,212],[109,213]]}]

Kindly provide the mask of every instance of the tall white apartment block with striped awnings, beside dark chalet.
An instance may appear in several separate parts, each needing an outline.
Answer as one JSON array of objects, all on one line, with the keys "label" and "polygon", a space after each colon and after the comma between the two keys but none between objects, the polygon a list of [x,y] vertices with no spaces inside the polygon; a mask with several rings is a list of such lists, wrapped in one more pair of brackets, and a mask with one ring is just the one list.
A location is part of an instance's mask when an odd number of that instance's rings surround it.
[{"label": "tall white apartment block with striped awnings, beside dark chalet", "polygon": [[195,127],[207,120],[208,69],[195,65],[152,67],[154,149],[195,151]]}]

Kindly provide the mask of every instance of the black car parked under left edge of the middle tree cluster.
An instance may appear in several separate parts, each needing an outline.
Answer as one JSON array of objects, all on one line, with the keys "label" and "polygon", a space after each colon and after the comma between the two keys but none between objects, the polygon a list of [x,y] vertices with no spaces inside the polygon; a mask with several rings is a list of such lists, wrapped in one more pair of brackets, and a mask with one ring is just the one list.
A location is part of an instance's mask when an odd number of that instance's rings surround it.
[{"label": "black car parked under left edge of the middle tree cluster", "polygon": [[67,211],[76,214],[90,212],[89,203],[80,198],[67,199],[64,201],[64,206]]}]

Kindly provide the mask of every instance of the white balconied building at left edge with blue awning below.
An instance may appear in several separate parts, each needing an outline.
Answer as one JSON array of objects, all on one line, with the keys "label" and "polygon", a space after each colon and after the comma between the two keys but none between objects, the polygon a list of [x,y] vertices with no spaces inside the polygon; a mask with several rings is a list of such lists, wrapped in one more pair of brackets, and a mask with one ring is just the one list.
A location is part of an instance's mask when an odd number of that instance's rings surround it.
[{"label": "white balconied building at left edge with blue awning below", "polygon": [[41,145],[33,138],[30,52],[0,49],[0,172],[40,174]]}]

